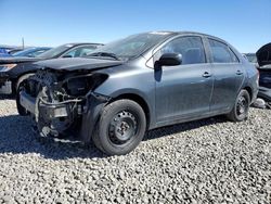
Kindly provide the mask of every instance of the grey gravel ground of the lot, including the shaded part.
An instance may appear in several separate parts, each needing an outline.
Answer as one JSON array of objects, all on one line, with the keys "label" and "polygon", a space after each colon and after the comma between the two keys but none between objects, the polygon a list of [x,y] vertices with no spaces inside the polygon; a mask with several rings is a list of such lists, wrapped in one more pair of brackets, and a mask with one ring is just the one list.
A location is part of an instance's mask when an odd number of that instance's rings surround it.
[{"label": "grey gravel ground of the lot, including the shaded part", "polygon": [[271,203],[271,111],[151,131],[136,151],[40,140],[0,99],[0,203]]}]

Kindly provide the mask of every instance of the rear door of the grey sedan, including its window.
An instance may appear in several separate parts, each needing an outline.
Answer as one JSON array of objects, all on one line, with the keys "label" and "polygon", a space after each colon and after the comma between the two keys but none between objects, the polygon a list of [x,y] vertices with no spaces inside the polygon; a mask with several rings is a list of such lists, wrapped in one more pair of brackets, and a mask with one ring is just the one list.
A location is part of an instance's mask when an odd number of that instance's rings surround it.
[{"label": "rear door of the grey sedan, including its window", "polygon": [[215,77],[210,110],[214,113],[228,112],[235,102],[245,71],[227,43],[211,38],[207,41]]}]

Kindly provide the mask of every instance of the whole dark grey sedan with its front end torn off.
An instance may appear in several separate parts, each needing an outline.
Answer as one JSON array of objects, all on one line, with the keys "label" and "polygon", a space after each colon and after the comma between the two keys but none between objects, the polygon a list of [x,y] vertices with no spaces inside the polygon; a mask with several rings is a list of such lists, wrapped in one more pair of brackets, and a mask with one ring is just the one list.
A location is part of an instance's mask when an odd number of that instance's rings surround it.
[{"label": "whole dark grey sedan with its front end torn off", "polygon": [[88,58],[36,63],[17,107],[43,137],[73,135],[108,155],[126,154],[146,130],[227,115],[247,118],[258,72],[225,41],[197,33],[133,35]]}]

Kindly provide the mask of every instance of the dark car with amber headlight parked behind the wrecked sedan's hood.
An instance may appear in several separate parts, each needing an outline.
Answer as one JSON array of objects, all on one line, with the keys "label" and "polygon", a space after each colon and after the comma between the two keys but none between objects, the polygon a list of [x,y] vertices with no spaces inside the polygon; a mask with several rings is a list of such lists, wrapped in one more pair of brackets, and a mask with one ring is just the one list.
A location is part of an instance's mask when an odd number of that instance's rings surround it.
[{"label": "dark car with amber headlight parked behind the wrecked sedan's hood", "polygon": [[100,46],[102,44],[67,43],[46,51],[37,58],[0,58],[0,94],[15,94],[20,82],[36,72],[36,67],[31,65],[33,62],[47,59],[83,56]]}]

